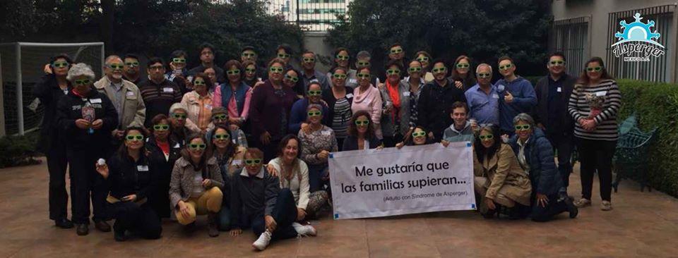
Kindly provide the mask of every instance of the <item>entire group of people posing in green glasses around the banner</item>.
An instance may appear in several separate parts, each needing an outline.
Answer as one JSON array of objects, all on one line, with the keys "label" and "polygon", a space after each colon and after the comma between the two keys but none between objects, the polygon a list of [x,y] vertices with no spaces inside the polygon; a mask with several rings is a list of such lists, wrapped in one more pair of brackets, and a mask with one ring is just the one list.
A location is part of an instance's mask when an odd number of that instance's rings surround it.
[{"label": "entire group of people posing in green glasses around the banner", "polygon": [[[600,58],[576,78],[565,73],[563,54],[551,54],[549,74],[533,86],[508,56],[492,83],[488,63],[474,75],[468,56],[447,63],[419,51],[406,61],[400,44],[388,49],[383,75],[374,74],[369,52],[352,62],[345,48],[335,50],[328,73],[316,70],[311,51],[295,67],[286,44],[266,68],[254,47],[222,67],[212,45],[199,50],[201,64],[190,70],[181,50],[169,63],[149,59],[145,80],[131,54],[108,56],[98,80],[65,54],[49,61],[32,93],[45,106],[40,149],[56,226],[75,224],[87,235],[90,202],[95,228],[118,241],[128,233],[160,238],[164,218],[190,232],[205,214],[210,236],[251,228],[252,245],[263,250],[272,240],[316,235],[308,221],[331,203],[332,152],[449,142],[472,142],[477,204],[487,218],[574,218],[591,204],[596,171],[601,208],[612,209],[621,95]],[[566,187],[575,146],[582,195],[573,202]]]}]

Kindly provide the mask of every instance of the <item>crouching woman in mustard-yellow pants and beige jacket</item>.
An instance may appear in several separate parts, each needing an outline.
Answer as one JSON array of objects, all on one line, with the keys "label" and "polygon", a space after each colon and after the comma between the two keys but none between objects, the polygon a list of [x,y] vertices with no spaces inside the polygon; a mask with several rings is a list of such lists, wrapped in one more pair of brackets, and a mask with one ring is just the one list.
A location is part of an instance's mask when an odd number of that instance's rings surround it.
[{"label": "crouching woman in mustard-yellow pants and beige jacket", "polygon": [[180,224],[191,231],[197,215],[208,214],[210,237],[219,235],[216,224],[217,213],[221,209],[224,186],[217,159],[205,153],[206,140],[192,136],[182,150],[182,157],[172,169],[172,182],[169,183],[169,202]]}]

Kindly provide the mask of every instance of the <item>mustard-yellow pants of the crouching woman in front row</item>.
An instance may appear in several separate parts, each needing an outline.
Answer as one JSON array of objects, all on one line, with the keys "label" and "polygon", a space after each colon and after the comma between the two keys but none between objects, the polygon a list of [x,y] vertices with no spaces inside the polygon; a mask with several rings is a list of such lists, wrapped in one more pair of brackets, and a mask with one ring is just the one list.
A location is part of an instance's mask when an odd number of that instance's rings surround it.
[{"label": "mustard-yellow pants of the crouching woman in front row", "polygon": [[174,211],[177,221],[182,225],[188,225],[196,221],[197,215],[205,215],[208,212],[217,213],[221,209],[221,201],[224,198],[221,190],[217,187],[203,192],[198,198],[191,197],[186,201],[189,207],[189,216],[184,216],[182,211]]}]

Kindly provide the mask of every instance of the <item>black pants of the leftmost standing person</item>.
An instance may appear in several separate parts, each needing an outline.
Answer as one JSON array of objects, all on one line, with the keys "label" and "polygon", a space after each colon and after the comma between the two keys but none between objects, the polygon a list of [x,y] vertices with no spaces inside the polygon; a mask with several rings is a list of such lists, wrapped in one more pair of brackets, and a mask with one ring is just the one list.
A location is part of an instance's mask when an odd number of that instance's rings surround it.
[{"label": "black pants of the leftmost standing person", "polygon": [[56,144],[47,151],[47,170],[49,171],[49,219],[67,219],[69,193],[66,192],[66,147]]}]

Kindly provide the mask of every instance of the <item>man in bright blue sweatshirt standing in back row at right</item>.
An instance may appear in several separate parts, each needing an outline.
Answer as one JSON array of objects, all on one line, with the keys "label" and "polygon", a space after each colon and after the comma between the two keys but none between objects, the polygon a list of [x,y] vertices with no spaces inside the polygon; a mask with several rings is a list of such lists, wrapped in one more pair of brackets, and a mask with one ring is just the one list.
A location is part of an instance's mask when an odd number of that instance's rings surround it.
[{"label": "man in bright blue sweatshirt standing in back row at right", "polygon": [[501,135],[513,135],[513,118],[518,113],[531,113],[537,105],[535,87],[529,80],[516,75],[516,64],[509,56],[499,58],[501,78],[495,83],[499,92],[499,127]]}]

